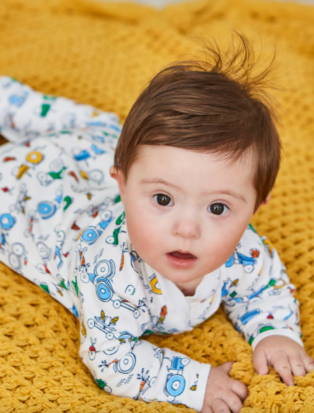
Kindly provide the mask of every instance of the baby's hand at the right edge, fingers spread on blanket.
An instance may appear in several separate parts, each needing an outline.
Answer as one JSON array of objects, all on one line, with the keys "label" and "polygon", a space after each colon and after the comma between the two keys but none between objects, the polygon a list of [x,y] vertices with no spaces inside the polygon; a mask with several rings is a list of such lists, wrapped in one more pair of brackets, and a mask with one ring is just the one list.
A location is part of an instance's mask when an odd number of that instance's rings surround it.
[{"label": "baby's hand at the right edge, fingers spread on blanket", "polygon": [[293,376],[305,376],[314,370],[313,358],[293,339],[281,335],[263,338],[255,347],[253,365],[259,374],[267,374],[272,366],[287,386],[294,386]]}]

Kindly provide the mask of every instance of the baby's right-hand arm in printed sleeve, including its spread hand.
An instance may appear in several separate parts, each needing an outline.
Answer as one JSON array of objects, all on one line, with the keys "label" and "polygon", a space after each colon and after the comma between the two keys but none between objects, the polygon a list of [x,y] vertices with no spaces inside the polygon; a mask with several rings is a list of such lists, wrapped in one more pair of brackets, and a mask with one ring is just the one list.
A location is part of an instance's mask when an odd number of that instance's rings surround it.
[{"label": "baby's right-hand arm in printed sleeve, including its spread hand", "polygon": [[[291,370],[295,375],[304,375],[303,363],[310,371],[313,360],[306,354],[301,340],[299,303],[293,296],[295,286],[290,283],[276,249],[265,237],[262,239],[252,227],[241,239],[241,253],[250,251],[255,263],[250,266],[247,253],[246,256],[238,254],[242,264],[232,266],[239,274],[238,280],[231,283],[223,297],[224,309],[235,328],[251,344],[257,372],[268,372],[268,363],[285,384],[290,385],[293,384]],[[232,267],[226,268],[227,274]]]}]

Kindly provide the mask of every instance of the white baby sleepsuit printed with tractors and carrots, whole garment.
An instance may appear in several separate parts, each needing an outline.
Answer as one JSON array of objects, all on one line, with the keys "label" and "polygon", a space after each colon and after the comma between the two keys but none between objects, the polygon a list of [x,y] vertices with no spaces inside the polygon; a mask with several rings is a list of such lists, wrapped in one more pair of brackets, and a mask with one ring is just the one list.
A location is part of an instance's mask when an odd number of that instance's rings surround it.
[{"label": "white baby sleepsuit printed with tractors and carrots, whole garment", "polygon": [[298,301],[271,243],[250,225],[231,258],[193,297],[133,250],[109,176],[117,115],[0,77],[0,260],[80,319],[79,354],[117,396],[200,411],[208,363],[140,339],[178,334],[221,302],[252,345],[285,335],[301,346]]}]

